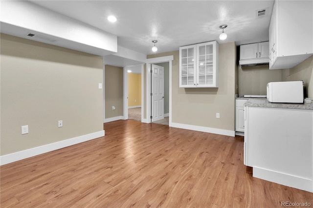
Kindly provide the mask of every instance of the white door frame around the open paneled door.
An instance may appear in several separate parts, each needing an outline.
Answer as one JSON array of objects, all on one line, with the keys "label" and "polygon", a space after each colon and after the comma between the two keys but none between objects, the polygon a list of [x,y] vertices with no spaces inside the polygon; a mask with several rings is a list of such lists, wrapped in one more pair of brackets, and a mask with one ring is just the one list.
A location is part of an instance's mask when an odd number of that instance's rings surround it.
[{"label": "white door frame around the open paneled door", "polygon": [[[172,61],[174,56],[162,56],[146,60],[146,119],[145,123],[151,123],[151,64],[169,62],[169,126],[172,126]],[[143,76],[141,76],[143,78]],[[142,109],[142,108],[141,108]],[[141,115],[142,118],[142,115]]]}]

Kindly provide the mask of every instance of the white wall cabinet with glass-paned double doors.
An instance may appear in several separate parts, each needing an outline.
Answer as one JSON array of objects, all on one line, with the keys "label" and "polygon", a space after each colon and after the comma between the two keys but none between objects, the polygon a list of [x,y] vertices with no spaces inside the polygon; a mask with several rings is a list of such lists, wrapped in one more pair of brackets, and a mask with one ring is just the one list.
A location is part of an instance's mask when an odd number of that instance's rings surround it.
[{"label": "white wall cabinet with glass-paned double doors", "polygon": [[219,43],[179,47],[179,87],[218,87]]}]

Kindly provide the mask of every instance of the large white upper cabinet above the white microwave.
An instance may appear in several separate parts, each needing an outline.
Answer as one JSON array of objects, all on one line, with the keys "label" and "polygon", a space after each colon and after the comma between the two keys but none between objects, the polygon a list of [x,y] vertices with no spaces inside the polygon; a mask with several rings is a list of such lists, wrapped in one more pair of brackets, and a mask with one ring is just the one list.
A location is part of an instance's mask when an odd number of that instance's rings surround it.
[{"label": "large white upper cabinet above the white microwave", "polygon": [[276,0],[269,24],[269,69],[292,68],[313,55],[313,1]]}]

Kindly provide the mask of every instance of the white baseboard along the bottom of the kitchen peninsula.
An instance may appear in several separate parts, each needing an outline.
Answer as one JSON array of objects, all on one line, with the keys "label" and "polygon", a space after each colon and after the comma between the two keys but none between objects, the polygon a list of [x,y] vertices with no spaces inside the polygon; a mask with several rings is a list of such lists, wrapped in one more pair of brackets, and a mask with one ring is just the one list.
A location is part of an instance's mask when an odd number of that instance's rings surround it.
[{"label": "white baseboard along the bottom of the kitchen peninsula", "polygon": [[313,192],[313,180],[253,166],[253,177]]}]

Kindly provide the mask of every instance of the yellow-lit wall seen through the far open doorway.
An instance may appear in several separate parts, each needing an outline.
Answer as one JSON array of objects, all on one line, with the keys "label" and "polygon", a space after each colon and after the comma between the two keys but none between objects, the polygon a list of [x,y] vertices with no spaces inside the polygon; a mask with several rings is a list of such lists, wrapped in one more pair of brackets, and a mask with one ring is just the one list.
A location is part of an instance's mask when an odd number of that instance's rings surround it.
[{"label": "yellow-lit wall seen through the far open doorway", "polygon": [[128,73],[128,106],[141,106],[141,74]]}]

